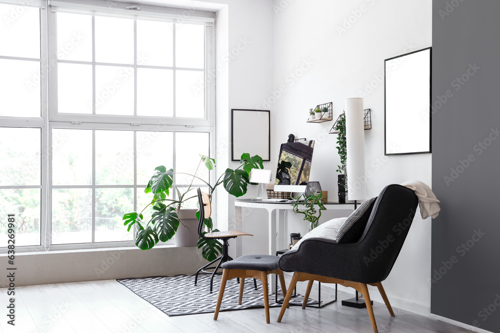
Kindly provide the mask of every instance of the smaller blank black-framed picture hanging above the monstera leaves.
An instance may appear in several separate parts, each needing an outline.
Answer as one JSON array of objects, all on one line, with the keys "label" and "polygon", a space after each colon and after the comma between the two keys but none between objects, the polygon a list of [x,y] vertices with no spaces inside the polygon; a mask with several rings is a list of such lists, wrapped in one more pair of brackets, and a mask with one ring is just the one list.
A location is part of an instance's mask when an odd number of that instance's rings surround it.
[{"label": "smaller blank black-framed picture hanging above the monstera leaves", "polygon": [[239,161],[243,153],[270,161],[269,110],[231,109],[231,160]]}]

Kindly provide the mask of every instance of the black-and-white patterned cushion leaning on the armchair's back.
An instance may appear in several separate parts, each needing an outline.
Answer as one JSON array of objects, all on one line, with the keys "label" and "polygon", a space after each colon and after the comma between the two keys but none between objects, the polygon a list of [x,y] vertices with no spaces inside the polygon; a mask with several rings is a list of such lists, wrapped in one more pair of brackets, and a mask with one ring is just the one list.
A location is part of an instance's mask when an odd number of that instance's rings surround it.
[{"label": "black-and-white patterned cushion leaning on the armchair's back", "polygon": [[344,224],[337,232],[337,243],[356,242],[363,234],[371,210],[375,204],[375,198],[363,202],[359,207],[345,220]]}]

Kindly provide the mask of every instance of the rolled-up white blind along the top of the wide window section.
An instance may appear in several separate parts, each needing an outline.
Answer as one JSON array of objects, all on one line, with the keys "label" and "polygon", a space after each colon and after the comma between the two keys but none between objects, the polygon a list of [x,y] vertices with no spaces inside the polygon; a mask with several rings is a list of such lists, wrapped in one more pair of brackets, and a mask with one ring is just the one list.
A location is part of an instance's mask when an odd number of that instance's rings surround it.
[{"label": "rolled-up white blind along the top of the wide window section", "polygon": [[[0,0],[1,1],[1,0]],[[212,25],[215,14],[195,8],[165,8],[160,6],[142,5],[117,1],[49,1],[54,12],[73,12],[82,14],[101,14],[106,16],[150,18],[177,23],[194,23]],[[140,9],[126,9],[125,7]]]}]

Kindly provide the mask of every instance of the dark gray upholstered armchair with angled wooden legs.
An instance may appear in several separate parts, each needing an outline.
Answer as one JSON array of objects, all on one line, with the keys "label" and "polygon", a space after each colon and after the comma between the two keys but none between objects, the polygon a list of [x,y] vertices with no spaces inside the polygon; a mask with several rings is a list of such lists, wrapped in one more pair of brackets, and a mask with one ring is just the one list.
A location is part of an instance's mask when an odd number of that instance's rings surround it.
[{"label": "dark gray upholstered armchair with angled wooden legs", "polygon": [[412,190],[401,185],[388,185],[378,195],[366,227],[356,242],[337,244],[326,239],[309,238],[298,249],[283,254],[278,262],[279,268],[295,273],[278,323],[296,283],[309,281],[304,298],[307,300],[312,282],[319,281],[352,287],[363,294],[373,332],[378,332],[367,285],[378,288],[387,310],[394,317],[381,282],[389,275],[401,251],[417,205],[418,199]]}]

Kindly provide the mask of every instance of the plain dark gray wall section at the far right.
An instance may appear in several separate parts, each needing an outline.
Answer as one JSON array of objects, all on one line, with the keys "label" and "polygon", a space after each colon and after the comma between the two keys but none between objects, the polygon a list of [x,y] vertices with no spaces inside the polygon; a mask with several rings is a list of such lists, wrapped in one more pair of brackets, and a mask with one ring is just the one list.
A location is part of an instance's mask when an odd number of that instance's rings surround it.
[{"label": "plain dark gray wall section at the far right", "polygon": [[431,313],[500,332],[500,1],[432,2]]}]

